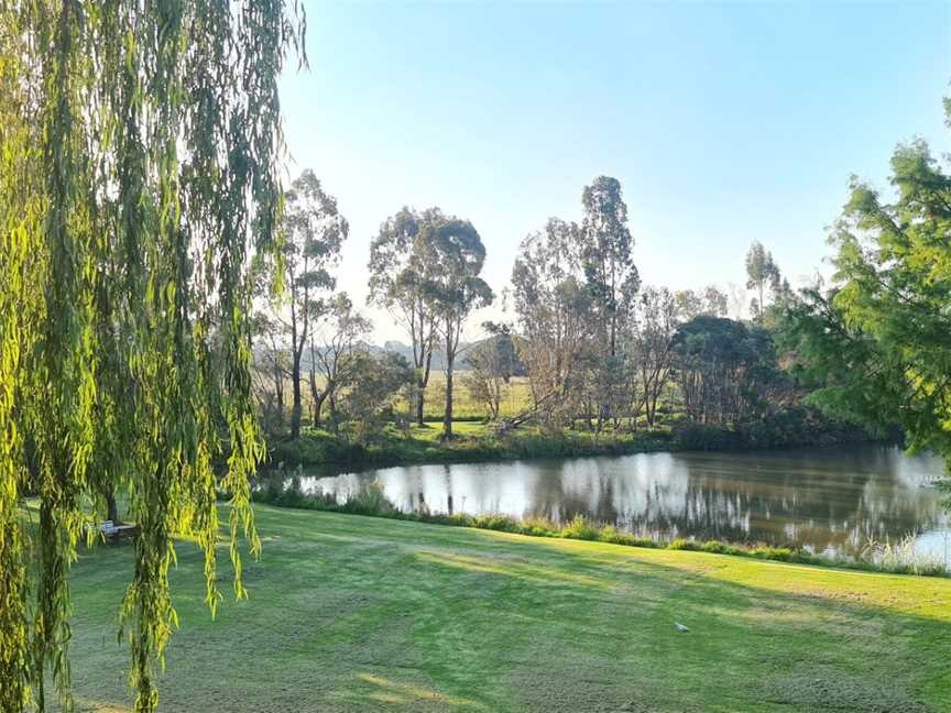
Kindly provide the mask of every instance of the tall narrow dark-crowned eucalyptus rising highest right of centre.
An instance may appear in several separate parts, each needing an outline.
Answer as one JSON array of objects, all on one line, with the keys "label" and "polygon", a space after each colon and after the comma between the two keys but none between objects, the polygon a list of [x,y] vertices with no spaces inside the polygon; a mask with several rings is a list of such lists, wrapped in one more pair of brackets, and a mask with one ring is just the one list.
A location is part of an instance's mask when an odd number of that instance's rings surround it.
[{"label": "tall narrow dark-crowned eucalyptus rising highest right of centre", "polygon": [[605,354],[617,354],[619,321],[637,293],[627,205],[616,178],[599,176],[581,195],[581,261],[599,320]]}]

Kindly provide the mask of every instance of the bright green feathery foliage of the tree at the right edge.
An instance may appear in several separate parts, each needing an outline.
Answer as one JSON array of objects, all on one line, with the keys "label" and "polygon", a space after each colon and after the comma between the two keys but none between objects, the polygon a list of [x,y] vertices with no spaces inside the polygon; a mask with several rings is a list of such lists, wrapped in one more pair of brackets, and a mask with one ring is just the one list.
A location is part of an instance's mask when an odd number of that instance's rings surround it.
[{"label": "bright green feathery foliage of the tree at the right edge", "polygon": [[920,141],[892,158],[895,200],[853,178],[831,241],[834,285],[783,311],[781,345],[812,401],[951,462],[951,177]]}]

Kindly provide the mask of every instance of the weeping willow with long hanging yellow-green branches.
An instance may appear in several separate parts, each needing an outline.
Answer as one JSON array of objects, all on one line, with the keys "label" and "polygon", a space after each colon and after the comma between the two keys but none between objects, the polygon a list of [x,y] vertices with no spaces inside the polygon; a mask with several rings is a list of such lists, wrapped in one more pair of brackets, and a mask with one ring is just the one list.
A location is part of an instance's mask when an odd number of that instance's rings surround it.
[{"label": "weeping willow with long hanging yellow-green branches", "polygon": [[[0,0],[0,710],[70,709],[67,573],[114,494],[138,711],[176,627],[174,540],[260,548],[250,274],[276,254],[280,0]],[[299,53],[303,58],[303,52]],[[218,522],[217,490],[230,493]]]}]

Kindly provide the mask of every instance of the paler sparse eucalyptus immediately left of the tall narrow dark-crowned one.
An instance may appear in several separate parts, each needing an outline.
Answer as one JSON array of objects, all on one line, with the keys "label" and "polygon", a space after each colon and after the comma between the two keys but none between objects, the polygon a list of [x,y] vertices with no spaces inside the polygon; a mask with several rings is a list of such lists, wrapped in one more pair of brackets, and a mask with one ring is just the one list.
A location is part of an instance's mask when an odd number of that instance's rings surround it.
[{"label": "paler sparse eucalyptus immediately left of the tall narrow dark-crowned one", "polygon": [[522,241],[512,268],[520,356],[536,407],[564,408],[580,396],[581,356],[594,336],[580,249],[578,224],[551,218]]}]

